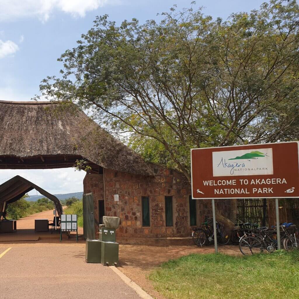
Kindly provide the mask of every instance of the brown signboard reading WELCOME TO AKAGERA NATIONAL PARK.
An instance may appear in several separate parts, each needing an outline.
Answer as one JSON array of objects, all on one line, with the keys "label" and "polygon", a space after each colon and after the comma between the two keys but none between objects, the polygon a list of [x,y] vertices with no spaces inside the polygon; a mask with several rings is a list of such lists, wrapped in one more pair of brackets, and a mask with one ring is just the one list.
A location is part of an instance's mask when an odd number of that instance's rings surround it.
[{"label": "brown signboard reading WELCOME TO AKAGERA NATIONAL PARK", "polygon": [[299,197],[298,141],[191,149],[193,199]]}]

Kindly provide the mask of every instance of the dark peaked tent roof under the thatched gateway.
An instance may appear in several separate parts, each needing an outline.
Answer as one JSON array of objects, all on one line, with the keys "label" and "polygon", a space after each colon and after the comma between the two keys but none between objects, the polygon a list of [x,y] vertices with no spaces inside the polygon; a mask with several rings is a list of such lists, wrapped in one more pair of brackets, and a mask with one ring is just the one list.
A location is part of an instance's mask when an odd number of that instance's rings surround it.
[{"label": "dark peaked tent roof under the thatched gateway", "polygon": [[62,205],[56,196],[48,193],[46,190],[22,178],[21,176],[15,176],[0,185],[0,204],[2,203],[3,205],[4,202],[6,202],[7,204],[16,202],[17,200],[22,198],[22,196],[33,189],[37,190],[40,194],[44,195],[54,202],[59,216],[63,213]]}]

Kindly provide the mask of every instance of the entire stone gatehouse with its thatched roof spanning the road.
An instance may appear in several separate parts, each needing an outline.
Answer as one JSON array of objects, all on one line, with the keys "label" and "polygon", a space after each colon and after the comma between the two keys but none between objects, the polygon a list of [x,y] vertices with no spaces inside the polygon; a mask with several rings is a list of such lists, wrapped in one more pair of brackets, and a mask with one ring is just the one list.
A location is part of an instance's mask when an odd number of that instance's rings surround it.
[{"label": "entire stone gatehouse with its thatched roof spanning the road", "polygon": [[79,160],[90,167],[83,186],[93,193],[96,224],[103,215],[120,217],[123,242],[171,243],[211,215],[209,201],[191,199],[182,173],[145,163],[77,106],[0,101],[0,169],[72,167]]}]

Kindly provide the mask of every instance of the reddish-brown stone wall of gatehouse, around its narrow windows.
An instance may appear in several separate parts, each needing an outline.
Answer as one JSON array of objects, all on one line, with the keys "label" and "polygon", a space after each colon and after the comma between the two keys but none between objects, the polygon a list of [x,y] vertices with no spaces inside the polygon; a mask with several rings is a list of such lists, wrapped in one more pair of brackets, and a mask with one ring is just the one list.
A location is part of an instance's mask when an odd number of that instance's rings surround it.
[{"label": "reddish-brown stone wall of gatehouse, around its narrow windows", "polygon": [[[118,237],[166,238],[190,236],[189,195],[190,184],[186,177],[174,170],[150,164],[155,176],[138,176],[115,170],[104,170],[105,215],[120,217]],[[86,174],[84,193],[94,195],[94,215],[98,221],[98,200],[103,199],[103,175]],[[115,201],[118,194],[119,200]],[[142,226],[141,198],[149,197],[150,227]],[[166,227],[165,196],[173,197],[173,226]],[[217,208],[225,211],[228,201],[216,201]],[[196,224],[205,216],[212,217],[210,200],[196,200]]]}]

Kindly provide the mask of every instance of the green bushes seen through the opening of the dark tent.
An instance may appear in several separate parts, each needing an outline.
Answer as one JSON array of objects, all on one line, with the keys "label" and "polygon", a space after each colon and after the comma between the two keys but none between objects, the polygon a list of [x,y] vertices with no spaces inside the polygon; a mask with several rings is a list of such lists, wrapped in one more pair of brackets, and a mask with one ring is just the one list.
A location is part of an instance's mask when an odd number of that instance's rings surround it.
[{"label": "green bushes seen through the opening of the dark tent", "polygon": [[7,206],[7,217],[9,219],[20,219],[28,215],[39,213],[45,210],[53,210],[54,203],[48,198],[40,198],[36,202],[28,202],[28,194],[24,195],[21,199],[13,202]]}]

